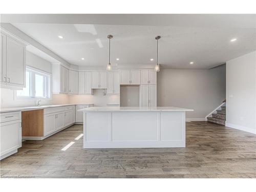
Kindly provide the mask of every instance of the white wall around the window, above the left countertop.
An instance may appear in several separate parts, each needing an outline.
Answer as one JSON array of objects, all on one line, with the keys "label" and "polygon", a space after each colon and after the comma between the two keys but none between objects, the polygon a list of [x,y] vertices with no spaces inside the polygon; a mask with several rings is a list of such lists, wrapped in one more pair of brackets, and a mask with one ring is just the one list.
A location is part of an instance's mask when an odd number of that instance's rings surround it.
[{"label": "white wall around the window, above the left countertop", "polygon": [[[42,59],[27,51],[26,65],[33,68],[52,73],[52,65],[49,61]],[[36,105],[37,99],[18,100],[15,98],[15,90],[1,88],[1,108],[12,108],[16,106]],[[41,99],[41,104],[66,104],[69,103],[68,95],[52,94],[52,99]]]}]

